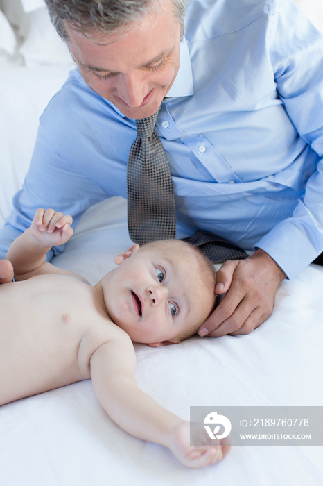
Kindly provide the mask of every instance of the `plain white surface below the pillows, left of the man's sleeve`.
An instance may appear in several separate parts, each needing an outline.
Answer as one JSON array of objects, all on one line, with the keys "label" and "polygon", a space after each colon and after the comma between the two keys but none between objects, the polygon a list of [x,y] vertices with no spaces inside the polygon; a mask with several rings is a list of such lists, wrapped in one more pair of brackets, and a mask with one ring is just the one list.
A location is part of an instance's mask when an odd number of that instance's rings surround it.
[{"label": "plain white surface below the pillows, left of the man's sleeve", "polygon": [[39,117],[68,74],[69,66],[1,66],[0,228],[28,170]]}]

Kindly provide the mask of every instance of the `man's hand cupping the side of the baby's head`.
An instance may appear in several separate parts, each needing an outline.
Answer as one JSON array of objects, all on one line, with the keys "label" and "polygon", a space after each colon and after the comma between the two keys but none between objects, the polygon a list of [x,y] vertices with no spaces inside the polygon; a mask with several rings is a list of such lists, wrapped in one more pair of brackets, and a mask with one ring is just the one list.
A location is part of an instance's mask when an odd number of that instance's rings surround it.
[{"label": "man's hand cupping the side of the baby's head", "polygon": [[284,278],[281,268],[261,249],[246,260],[223,263],[215,292],[227,294],[202,324],[199,334],[220,337],[251,333],[271,315],[277,287]]}]

